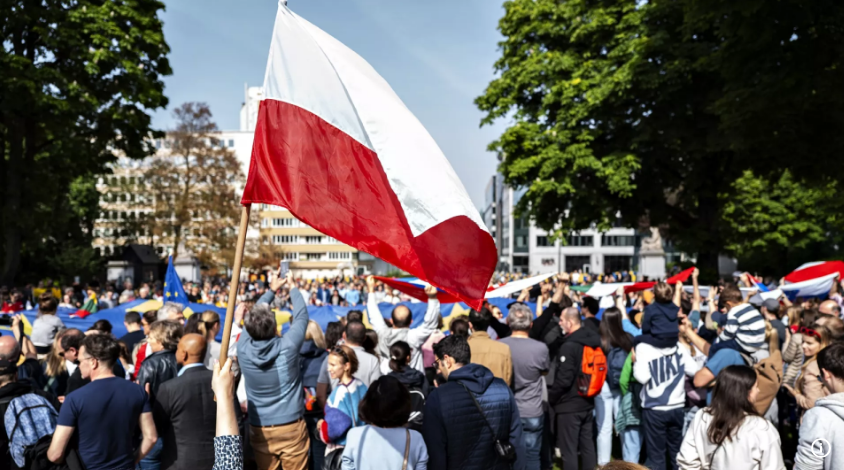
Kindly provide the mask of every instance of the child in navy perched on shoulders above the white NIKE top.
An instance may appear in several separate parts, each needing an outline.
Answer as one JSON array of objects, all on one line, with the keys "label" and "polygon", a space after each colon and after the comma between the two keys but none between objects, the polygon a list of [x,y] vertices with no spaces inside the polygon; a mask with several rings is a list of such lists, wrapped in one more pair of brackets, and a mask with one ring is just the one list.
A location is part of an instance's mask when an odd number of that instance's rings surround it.
[{"label": "child in navy perched on shoulders above the white NIKE top", "polygon": [[642,335],[635,338],[635,344],[646,343],[655,348],[670,348],[677,345],[680,335],[677,314],[680,311],[680,294],[683,284],[678,282],[672,288],[665,282],[654,286],[654,302],[645,307],[642,318]]}]

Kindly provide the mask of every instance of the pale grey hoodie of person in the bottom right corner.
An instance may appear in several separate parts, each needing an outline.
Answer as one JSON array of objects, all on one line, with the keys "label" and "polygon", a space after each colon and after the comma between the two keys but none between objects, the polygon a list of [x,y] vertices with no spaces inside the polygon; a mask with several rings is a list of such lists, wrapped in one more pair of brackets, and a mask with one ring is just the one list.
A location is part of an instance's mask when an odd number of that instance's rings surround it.
[{"label": "pale grey hoodie of person in the bottom right corner", "polygon": [[821,469],[844,469],[844,393],[819,399],[803,415],[794,470]]}]

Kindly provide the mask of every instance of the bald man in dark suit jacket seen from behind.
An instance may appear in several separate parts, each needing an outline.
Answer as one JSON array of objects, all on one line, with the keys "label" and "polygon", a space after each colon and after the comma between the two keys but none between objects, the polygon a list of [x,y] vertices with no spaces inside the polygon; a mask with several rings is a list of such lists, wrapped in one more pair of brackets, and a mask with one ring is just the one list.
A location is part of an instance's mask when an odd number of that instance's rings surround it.
[{"label": "bald man in dark suit jacket seen from behind", "polygon": [[206,347],[201,335],[183,336],[176,349],[179,375],[158,389],[153,418],[164,443],[163,470],[214,466],[217,404],[211,391],[213,373],[203,364]]}]

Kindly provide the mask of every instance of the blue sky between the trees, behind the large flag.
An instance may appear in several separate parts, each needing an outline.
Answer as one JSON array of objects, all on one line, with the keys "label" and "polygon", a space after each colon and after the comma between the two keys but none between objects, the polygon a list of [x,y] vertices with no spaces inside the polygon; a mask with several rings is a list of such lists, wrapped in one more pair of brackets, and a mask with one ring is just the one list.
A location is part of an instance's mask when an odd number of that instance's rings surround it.
[{"label": "blue sky between the trees, behind the large flag", "polygon": [[[436,139],[480,207],[495,172],[486,146],[503,122],[479,128],[473,104],[493,78],[499,0],[289,0],[289,7],[365,58]],[[205,101],[222,129],[238,129],[243,85],[263,83],[277,3],[176,0],[162,15],[173,75],[170,108]],[[172,125],[169,110],[153,124]]]}]

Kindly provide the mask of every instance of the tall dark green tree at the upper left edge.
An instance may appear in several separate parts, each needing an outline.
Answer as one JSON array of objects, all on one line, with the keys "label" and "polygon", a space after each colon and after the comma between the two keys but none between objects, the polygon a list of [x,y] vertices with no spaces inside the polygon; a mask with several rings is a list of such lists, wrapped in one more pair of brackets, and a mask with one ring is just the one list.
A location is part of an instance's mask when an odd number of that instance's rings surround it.
[{"label": "tall dark green tree at the upper left edge", "polygon": [[68,196],[96,197],[79,178],[92,181],[116,155],[152,153],[148,113],[167,104],[161,77],[171,73],[163,8],[157,0],[0,2],[0,284],[21,266],[56,275],[66,273],[45,263],[91,261],[97,212]]}]

